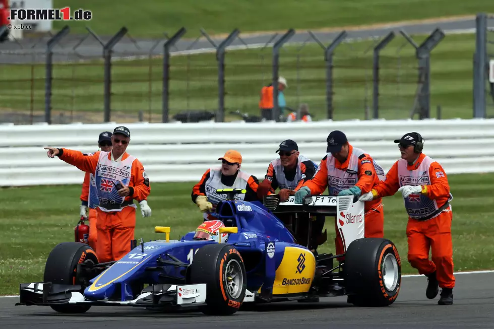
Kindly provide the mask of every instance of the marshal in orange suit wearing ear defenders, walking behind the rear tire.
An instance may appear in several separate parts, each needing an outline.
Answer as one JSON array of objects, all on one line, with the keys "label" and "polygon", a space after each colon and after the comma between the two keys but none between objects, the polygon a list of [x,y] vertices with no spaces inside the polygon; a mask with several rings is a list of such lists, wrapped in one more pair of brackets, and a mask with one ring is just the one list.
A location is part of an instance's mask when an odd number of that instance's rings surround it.
[{"label": "marshal in orange suit wearing ear defenders, walking behind the rear tire", "polygon": [[[362,194],[359,200],[369,201],[402,192],[408,213],[408,261],[418,273],[427,276],[426,297],[434,299],[441,287],[438,304],[451,305],[455,277],[451,239],[453,213],[449,204],[453,195],[448,177],[439,162],[422,153],[420,134],[405,134],[395,143],[398,143],[401,159],[393,164],[385,181]],[[429,249],[432,259],[429,259]]]}]

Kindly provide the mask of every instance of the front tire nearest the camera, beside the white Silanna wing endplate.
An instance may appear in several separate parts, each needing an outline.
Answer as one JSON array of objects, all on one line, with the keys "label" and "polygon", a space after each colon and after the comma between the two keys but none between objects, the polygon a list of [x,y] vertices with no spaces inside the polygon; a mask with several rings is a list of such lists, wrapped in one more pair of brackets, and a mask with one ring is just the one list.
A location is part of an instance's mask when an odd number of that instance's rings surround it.
[{"label": "front tire nearest the camera, beside the white Silanna wing endplate", "polygon": [[242,256],[225,243],[207,244],[196,252],[188,273],[191,284],[206,284],[206,315],[231,315],[245,297],[247,277]]}]

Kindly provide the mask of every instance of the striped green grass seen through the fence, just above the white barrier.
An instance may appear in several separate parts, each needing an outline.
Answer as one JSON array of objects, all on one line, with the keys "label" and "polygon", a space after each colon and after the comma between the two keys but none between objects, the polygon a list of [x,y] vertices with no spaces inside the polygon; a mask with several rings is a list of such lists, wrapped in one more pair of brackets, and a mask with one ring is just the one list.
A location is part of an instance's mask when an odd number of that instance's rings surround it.
[{"label": "striped green grass seen through the fence, just above the white barrier", "polygon": [[[414,36],[420,44],[426,36]],[[341,44],[334,57],[334,119],[365,119],[372,115],[372,47],[376,41]],[[472,58],[475,35],[447,35],[431,53],[431,116],[442,107],[442,118],[472,118]],[[229,111],[259,115],[259,92],[272,75],[272,49],[229,51],[225,66],[227,120]],[[44,111],[43,64],[0,64],[2,107],[29,113]],[[280,75],[288,81],[287,104],[308,103],[315,119],[327,118],[326,62],[317,44],[286,46],[280,55]],[[401,35],[381,52],[380,117],[403,119],[410,115],[416,87],[414,48]],[[103,119],[103,65],[101,61],[56,63],[53,69],[53,117],[63,112],[74,121]],[[171,57],[170,116],[186,109],[216,111],[218,106],[215,54]],[[160,122],[162,59],[115,61],[112,66],[112,120],[135,121],[140,110],[145,120]],[[31,95],[33,97],[31,98]],[[492,100],[487,100],[494,114]],[[287,115],[288,113],[285,113]],[[416,118],[417,116],[415,116]]]}]

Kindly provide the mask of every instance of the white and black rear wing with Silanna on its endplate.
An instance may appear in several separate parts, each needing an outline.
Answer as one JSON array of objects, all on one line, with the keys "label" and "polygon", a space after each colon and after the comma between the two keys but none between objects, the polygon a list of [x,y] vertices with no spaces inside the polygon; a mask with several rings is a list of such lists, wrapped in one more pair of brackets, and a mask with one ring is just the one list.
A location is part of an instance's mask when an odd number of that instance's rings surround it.
[{"label": "white and black rear wing with Silanna on its endplate", "polygon": [[353,195],[307,195],[302,204],[295,204],[293,195],[286,202],[280,202],[278,195],[267,195],[264,197],[264,206],[274,215],[308,213],[335,217],[345,252],[353,240],[364,237],[364,203]]}]

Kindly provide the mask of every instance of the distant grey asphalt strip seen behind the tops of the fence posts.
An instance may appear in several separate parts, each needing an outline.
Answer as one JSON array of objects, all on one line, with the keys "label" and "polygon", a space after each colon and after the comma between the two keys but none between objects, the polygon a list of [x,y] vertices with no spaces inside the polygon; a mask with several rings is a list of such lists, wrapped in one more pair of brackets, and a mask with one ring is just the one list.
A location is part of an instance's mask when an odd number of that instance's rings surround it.
[{"label": "distant grey asphalt strip seen behind the tops of the fence posts", "polygon": [[[488,26],[494,27],[494,19],[488,20]],[[347,31],[346,39],[368,39],[368,38],[381,38],[386,36],[391,31],[399,33],[400,30],[405,31],[408,35],[413,36],[415,34],[430,34],[436,28],[440,28],[448,33],[465,33],[475,32],[475,18],[461,18],[452,20],[442,20],[435,23],[402,23],[402,24],[388,24],[380,25],[378,27],[369,28],[356,28]],[[342,30],[336,30],[331,32],[315,32],[317,38],[328,46],[341,32]],[[171,35],[174,32],[171,32]],[[246,34],[242,36],[240,31],[240,38],[236,38],[231,48],[260,48],[267,43],[273,44],[281,38],[283,33],[263,33],[263,34]],[[187,35],[186,35],[187,36]],[[103,43],[107,42],[110,37],[101,37]],[[59,45],[54,48],[54,61],[67,61],[76,59],[91,59],[101,58],[102,46],[98,40],[89,36],[82,41],[83,36],[75,36],[72,34],[67,35]],[[46,50],[47,38],[40,39],[22,39],[18,42],[9,41],[0,44],[0,62],[3,63],[19,63],[30,61],[44,61],[44,52]],[[81,43],[82,41],[82,43]],[[129,38],[122,38],[113,48],[113,57],[125,58],[136,56],[148,56],[150,53],[159,55],[163,52],[163,43],[165,39],[161,41],[141,39],[136,42]],[[215,45],[219,45],[222,39],[213,38]],[[295,34],[288,40],[289,43],[302,43],[302,42],[316,42],[310,37],[310,34],[306,31],[295,31]],[[74,50],[76,47],[76,50]],[[171,48],[172,54],[181,53],[195,53],[195,52],[208,52],[215,51],[214,46],[206,38],[199,40],[195,39],[180,39],[174,47]],[[28,56],[36,52],[35,57]],[[17,55],[7,55],[9,53],[15,53]],[[3,55],[6,54],[6,55]],[[21,54],[21,55],[18,55]],[[23,56],[22,54],[26,54]]]}]

